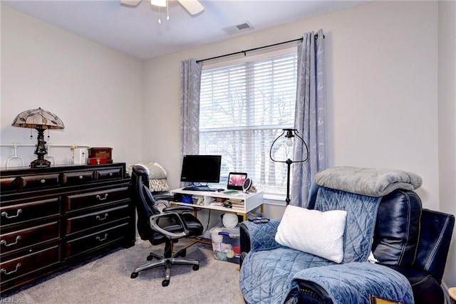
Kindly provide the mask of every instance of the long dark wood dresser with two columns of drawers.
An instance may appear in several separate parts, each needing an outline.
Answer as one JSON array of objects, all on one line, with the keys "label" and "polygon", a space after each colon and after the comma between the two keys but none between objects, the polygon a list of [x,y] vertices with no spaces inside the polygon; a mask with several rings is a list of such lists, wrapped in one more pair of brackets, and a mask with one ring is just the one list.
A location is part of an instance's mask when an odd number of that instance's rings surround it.
[{"label": "long dark wood dresser with two columns of drawers", "polygon": [[0,171],[0,292],[135,244],[125,163]]}]

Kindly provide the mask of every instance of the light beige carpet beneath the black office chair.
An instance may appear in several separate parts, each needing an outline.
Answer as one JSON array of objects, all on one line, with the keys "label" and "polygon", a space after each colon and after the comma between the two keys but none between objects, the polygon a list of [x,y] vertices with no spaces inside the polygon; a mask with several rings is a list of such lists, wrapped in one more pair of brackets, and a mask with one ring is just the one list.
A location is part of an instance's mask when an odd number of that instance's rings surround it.
[{"label": "light beige carpet beneath the black office chair", "polygon": [[[182,248],[185,241],[176,244]],[[154,268],[130,278],[135,267],[147,263],[150,251],[162,246],[142,241],[51,276],[16,293],[6,294],[9,303],[244,303],[239,290],[237,264],[215,260],[211,246],[197,243],[187,249],[187,258],[199,260],[199,270],[173,265],[171,281],[162,287],[163,268]]]}]

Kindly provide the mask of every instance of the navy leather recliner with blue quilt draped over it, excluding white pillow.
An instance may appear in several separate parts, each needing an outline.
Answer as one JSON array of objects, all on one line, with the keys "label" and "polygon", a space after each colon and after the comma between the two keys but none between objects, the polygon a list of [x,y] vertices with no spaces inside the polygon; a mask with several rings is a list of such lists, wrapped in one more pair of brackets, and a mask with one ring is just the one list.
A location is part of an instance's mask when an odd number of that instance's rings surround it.
[{"label": "navy leather recliner with blue quilt draped over it, excluding white pillow", "polygon": [[[353,196],[350,192],[313,184],[307,207],[316,208],[323,193],[325,197],[330,193],[338,201],[351,201]],[[339,209],[339,206],[331,208]],[[363,217],[363,211],[354,213]],[[455,216],[423,209],[418,194],[394,189],[380,197],[373,221],[372,239],[365,241],[369,242],[378,263],[363,261],[364,256],[342,263],[309,258],[308,253],[276,242],[274,236],[280,220],[267,224],[243,222],[240,287],[244,300],[346,304],[371,303],[371,297],[378,296],[404,303],[445,303],[440,283]],[[353,219],[347,217],[347,225],[348,222]],[[351,246],[350,240],[345,241],[344,246]]]}]

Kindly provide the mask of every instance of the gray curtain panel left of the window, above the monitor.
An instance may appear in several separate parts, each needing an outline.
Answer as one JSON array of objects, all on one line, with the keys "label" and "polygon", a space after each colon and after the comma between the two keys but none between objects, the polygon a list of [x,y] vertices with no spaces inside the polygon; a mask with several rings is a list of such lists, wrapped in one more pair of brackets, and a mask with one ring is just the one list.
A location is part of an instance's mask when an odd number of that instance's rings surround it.
[{"label": "gray curtain panel left of the window, above the monitor", "polygon": [[195,59],[180,65],[180,140],[181,154],[199,152],[199,89],[202,63]]}]

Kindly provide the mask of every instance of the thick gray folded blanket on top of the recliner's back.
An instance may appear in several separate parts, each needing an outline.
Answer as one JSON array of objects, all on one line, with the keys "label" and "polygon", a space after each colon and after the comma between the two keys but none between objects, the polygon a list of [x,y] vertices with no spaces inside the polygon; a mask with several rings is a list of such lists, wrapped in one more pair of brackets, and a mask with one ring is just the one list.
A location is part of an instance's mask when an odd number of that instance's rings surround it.
[{"label": "thick gray folded blanket on top of the recliner's back", "polygon": [[315,183],[365,196],[385,196],[395,189],[415,190],[423,179],[415,173],[398,169],[331,167],[318,172]]}]

